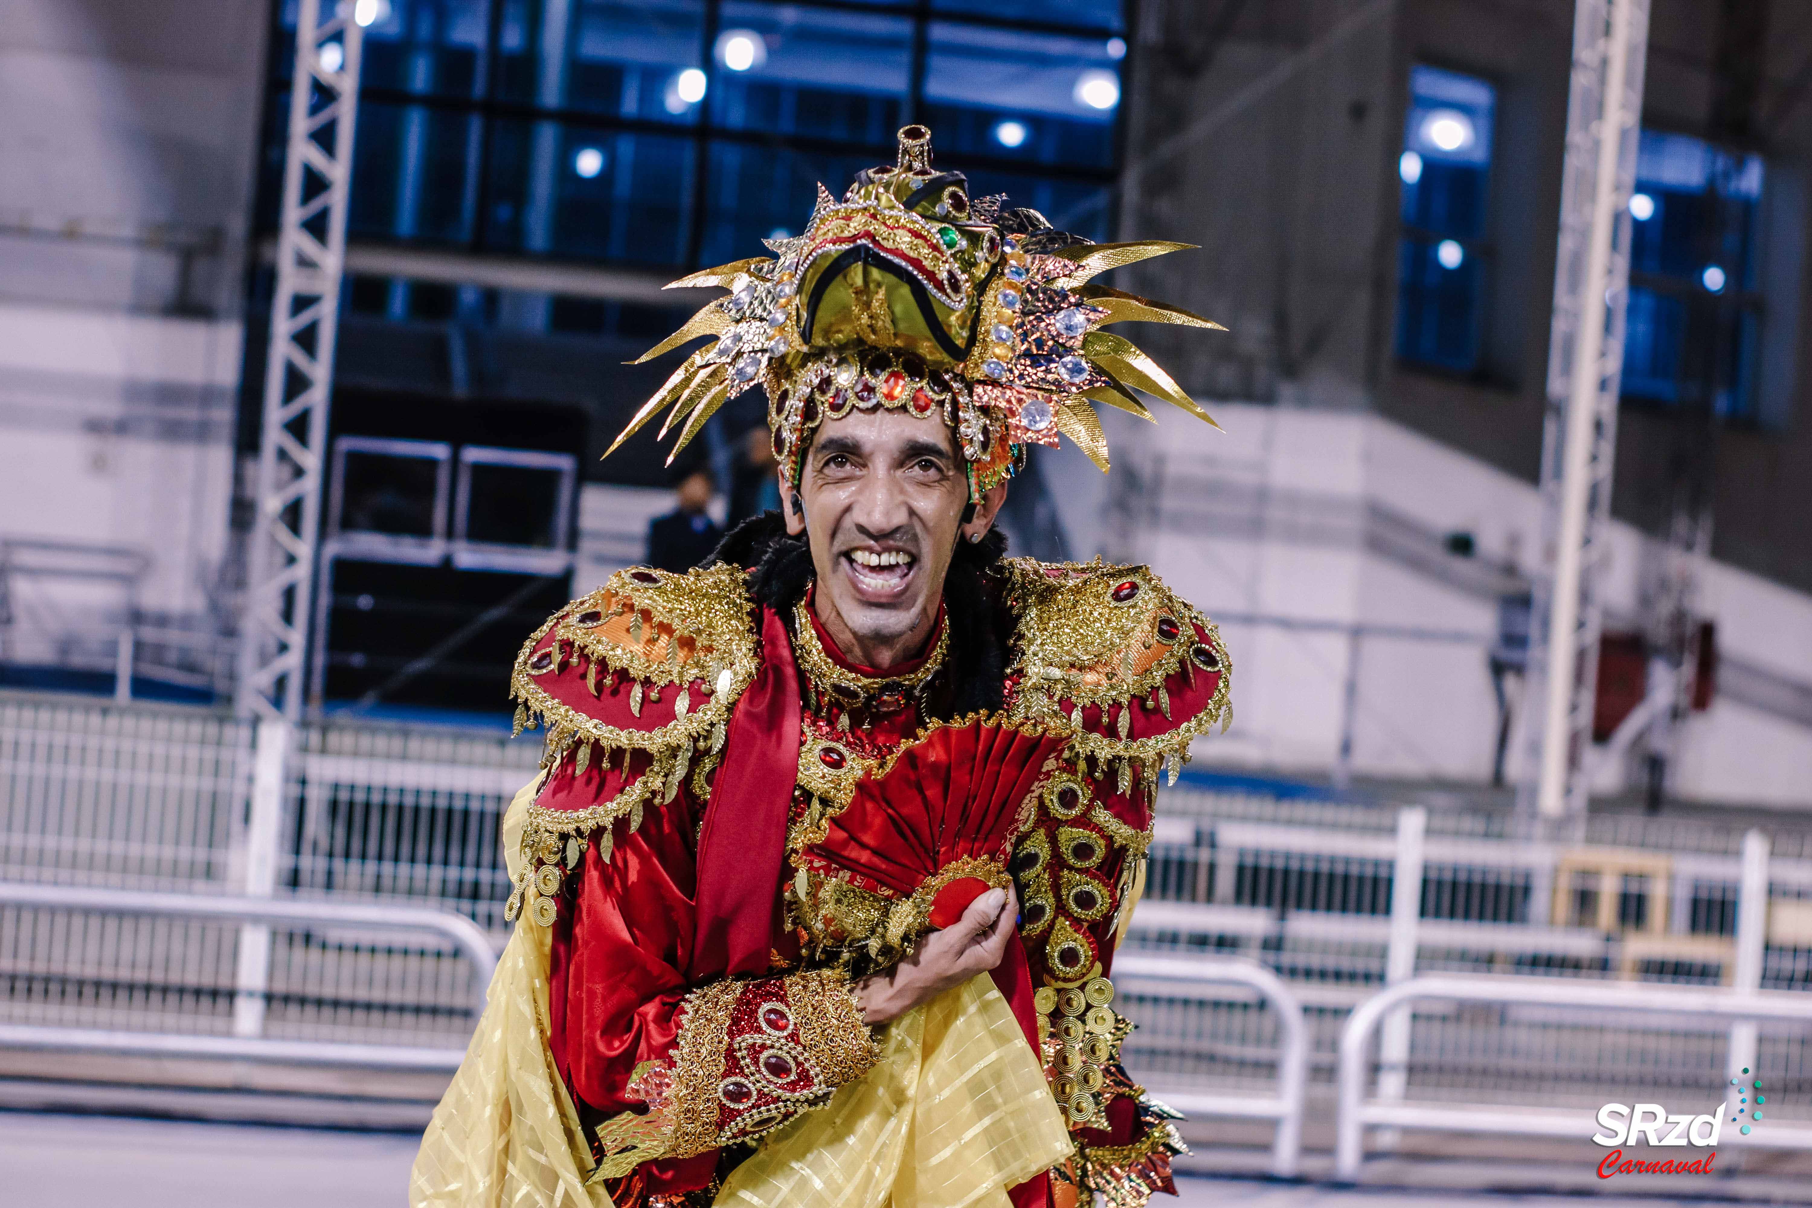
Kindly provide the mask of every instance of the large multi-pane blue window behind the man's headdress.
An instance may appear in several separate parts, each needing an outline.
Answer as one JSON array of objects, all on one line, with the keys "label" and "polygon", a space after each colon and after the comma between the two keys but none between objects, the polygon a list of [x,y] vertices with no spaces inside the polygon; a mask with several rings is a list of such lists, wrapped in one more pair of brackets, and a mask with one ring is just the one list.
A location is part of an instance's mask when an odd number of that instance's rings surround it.
[{"label": "large multi-pane blue window behind the man's headdress", "polygon": [[[266,228],[295,7],[277,11]],[[716,264],[797,234],[821,183],[841,194],[857,170],[893,158],[899,127],[926,121],[939,163],[968,172],[977,196],[1007,192],[1105,237],[1122,7],[379,0],[364,34],[350,232],[660,270]],[[357,306],[482,310],[428,286],[381,293],[359,284]]]}]

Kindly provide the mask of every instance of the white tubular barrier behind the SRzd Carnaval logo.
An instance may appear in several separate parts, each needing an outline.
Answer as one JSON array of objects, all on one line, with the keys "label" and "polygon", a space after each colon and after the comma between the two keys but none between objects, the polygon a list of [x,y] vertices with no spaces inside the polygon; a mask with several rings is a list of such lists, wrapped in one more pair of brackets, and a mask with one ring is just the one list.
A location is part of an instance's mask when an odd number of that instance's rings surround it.
[{"label": "white tubular barrier behind the SRzd Carnaval logo", "polygon": [[[1812,996],[1756,991],[1700,991],[1654,985],[1605,985],[1562,978],[1435,976],[1413,978],[1373,994],[1354,1009],[1341,1032],[1339,1119],[1334,1143],[1334,1174],[1355,1181],[1364,1161],[1366,1125],[1488,1132],[1509,1136],[1587,1139],[1596,1130],[1591,1108],[1537,1108],[1486,1103],[1415,1103],[1366,1099],[1366,1050],[1372,1032],[1393,1009],[1408,1011],[1415,1000],[1471,1003],[1524,1003],[1586,1011],[1654,1016],[1698,1016],[1754,1023],[1758,1020],[1812,1023]],[[1732,1054],[1732,1063],[1738,1059]],[[1732,1070],[1736,1072],[1736,1070]],[[1770,1119],[1752,1134],[1725,1132],[1723,1143],[1769,1148],[1812,1148],[1812,1123]]]}]

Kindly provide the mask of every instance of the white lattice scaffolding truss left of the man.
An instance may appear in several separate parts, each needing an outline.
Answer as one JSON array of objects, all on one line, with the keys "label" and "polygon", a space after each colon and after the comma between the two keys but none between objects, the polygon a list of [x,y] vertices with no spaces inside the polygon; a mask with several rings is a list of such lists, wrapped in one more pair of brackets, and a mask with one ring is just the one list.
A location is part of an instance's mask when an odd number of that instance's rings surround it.
[{"label": "white lattice scaffolding truss left of the man", "polygon": [[[323,13],[326,7],[326,13]],[[297,719],[321,527],[328,398],[346,259],[361,22],[373,0],[301,0],[270,306],[237,710]]]}]

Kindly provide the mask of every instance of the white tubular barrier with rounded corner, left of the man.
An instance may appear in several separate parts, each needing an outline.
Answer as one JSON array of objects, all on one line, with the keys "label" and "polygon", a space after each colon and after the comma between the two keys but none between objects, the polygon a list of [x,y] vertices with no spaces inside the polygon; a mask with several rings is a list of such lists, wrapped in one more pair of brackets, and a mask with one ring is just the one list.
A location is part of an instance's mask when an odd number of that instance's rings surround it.
[{"label": "white tubular barrier with rounded corner, left of the man", "polygon": [[[210,896],[188,893],[141,893],[71,886],[0,882],[0,907],[125,915],[158,918],[221,920],[248,925],[306,925],[355,929],[359,933],[428,933],[453,944],[471,969],[473,1020],[484,1011],[496,953],[469,918],[417,906],[362,906],[284,898]],[[236,1018],[243,1016],[236,1011]],[[263,1012],[257,1014],[263,1020]],[[464,1049],[364,1045],[323,1040],[277,1040],[236,1036],[138,1032],[91,1027],[40,1027],[0,1023],[0,1047],[83,1052],[130,1052],[147,1056],[243,1058],[310,1065],[361,1065],[415,1070],[453,1070]]]}]

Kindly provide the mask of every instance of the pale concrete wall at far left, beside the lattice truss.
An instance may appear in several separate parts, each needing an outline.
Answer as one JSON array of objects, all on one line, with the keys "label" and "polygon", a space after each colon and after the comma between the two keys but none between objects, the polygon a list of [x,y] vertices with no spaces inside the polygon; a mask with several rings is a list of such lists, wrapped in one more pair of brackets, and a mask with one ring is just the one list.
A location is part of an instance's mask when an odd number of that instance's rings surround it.
[{"label": "pale concrete wall at far left, beside the lattice truss", "polygon": [[268,7],[0,0],[9,661],[217,630]]}]

